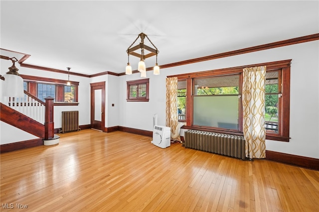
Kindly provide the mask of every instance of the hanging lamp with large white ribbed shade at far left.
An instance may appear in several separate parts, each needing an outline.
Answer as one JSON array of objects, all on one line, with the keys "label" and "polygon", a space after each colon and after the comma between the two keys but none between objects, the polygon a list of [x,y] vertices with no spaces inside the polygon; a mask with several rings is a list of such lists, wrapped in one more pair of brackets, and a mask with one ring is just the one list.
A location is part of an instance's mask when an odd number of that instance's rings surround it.
[{"label": "hanging lamp with large white ribbed shade at far left", "polygon": [[12,61],[12,66],[9,67],[9,71],[2,76],[2,78],[4,78],[2,95],[4,97],[24,97],[23,79],[20,77],[18,69],[14,65],[18,60],[15,57],[7,59]]}]

